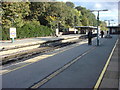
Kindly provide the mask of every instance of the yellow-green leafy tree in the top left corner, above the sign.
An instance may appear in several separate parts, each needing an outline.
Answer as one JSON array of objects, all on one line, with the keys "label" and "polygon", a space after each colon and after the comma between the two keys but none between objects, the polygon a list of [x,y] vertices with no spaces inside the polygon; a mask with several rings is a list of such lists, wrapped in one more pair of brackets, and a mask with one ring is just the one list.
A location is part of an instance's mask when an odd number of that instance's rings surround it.
[{"label": "yellow-green leafy tree in the top left corner, above the sign", "polygon": [[23,26],[24,19],[30,12],[29,4],[29,2],[2,2],[2,27],[10,28],[13,24],[16,27]]}]

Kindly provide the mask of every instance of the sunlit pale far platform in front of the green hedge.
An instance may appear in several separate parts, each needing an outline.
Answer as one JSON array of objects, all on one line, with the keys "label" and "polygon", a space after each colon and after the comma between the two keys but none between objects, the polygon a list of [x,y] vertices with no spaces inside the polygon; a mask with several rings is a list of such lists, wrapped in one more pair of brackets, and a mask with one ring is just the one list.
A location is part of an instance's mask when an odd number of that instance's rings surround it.
[{"label": "sunlit pale far platform in front of the green hedge", "polygon": [[2,49],[10,49],[14,47],[22,47],[27,45],[41,44],[47,41],[54,41],[60,39],[69,39],[69,38],[79,38],[81,35],[62,35],[59,37],[36,37],[36,38],[26,38],[26,39],[15,39],[14,43],[11,40],[0,41],[0,50]]}]

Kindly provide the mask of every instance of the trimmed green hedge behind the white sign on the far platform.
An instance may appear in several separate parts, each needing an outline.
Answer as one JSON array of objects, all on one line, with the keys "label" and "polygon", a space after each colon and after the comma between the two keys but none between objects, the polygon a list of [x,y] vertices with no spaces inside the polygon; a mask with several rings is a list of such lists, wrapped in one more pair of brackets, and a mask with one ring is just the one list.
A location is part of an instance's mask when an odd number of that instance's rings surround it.
[{"label": "trimmed green hedge behind the white sign on the far platform", "polygon": [[[50,36],[53,31],[47,26],[40,25],[37,21],[27,21],[21,28],[16,28],[17,38]],[[9,40],[9,29],[3,29],[2,40]]]}]

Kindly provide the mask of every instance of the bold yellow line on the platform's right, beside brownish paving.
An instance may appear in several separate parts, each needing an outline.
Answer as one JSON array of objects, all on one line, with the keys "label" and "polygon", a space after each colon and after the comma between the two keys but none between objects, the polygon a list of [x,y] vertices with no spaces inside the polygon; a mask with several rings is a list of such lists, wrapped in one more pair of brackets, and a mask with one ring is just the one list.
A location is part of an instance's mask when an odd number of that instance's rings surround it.
[{"label": "bold yellow line on the platform's right, beside brownish paving", "polygon": [[103,76],[104,76],[105,71],[107,70],[108,64],[109,64],[109,62],[110,62],[110,59],[111,59],[111,57],[112,57],[112,55],[113,55],[113,52],[114,52],[114,50],[115,50],[115,47],[116,47],[117,43],[118,43],[118,40],[116,41],[115,46],[113,47],[112,52],[111,52],[111,54],[110,54],[110,56],[109,56],[109,58],[108,58],[108,60],[107,60],[107,62],[106,62],[106,64],[105,64],[105,66],[104,66],[104,68],[103,68],[103,70],[102,70],[102,72],[101,72],[101,74],[100,74],[100,77],[99,77],[99,79],[97,80],[97,83],[96,83],[95,86],[94,86],[94,90],[97,90],[97,89],[99,88],[99,85],[100,85],[100,83],[101,83],[101,81],[102,81],[102,78],[103,78]]}]

